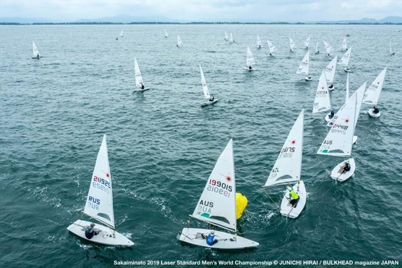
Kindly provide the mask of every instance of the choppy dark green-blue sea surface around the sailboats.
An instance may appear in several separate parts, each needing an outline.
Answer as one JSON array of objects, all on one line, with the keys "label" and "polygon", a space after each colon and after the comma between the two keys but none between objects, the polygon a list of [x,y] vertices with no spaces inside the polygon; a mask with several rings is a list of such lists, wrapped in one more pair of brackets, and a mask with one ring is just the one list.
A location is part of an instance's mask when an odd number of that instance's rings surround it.
[{"label": "choppy dark green-blue sea surface around the sailboats", "polygon": [[[115,40],[124,29],[125,36]],[[164,38],[163,30],[169,32]],[[228,44],[224,32],[233,32]],[[1,26],[0,182],[4,267],[84,266],[113,260],[265,260],[402,258],[402,38],[400,26],[106,25]],[[337,183],[316,157],[327,133],[312,115],[321,70],[332,57],[315,55],[319,41],[340,52],[352,46],[350,88],[370,84],[388,66],[381,117],[363,105],[353,147],[357,169]],[[176,34],[183,47],[176,47]],[[255,49],[256,35],[278,48]],[[288,52],[291,36],[294,53]],[[313,81],[295,74],[311,36]],[[31,59],[32,40],[43,58]],[[388,54],[388,42],[394,56]],[[244,72],[246,47],[257,71]],[[134,57],[146,85],[132,94]],[[201,108],[201,64],[219,99]],[[335,109],[346,73],[338,66]],[[261,186],[286,136],[306,109],[302,178],[304,212],[283,218]],[[66,227],[80,217],[103,134],[108,135],[116,229],[131,249],[86,243]],[[252,251],[221,252],[179,244],[212,168],[234,139],[237,191],[249,200],[238,226],[258,241]],[[332,169],[341,158],[320,156]],[[267,189],[279,203],[283,187]],[[195,220],[192,226],[205,227]]]}]

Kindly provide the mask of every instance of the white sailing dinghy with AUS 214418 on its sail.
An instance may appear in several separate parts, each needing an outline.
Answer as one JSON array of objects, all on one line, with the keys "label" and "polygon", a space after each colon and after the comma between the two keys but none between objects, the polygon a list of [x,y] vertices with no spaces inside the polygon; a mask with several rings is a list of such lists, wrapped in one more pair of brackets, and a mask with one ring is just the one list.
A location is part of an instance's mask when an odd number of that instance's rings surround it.
[{"label": "white sailing dinghy with AUS 214418 on its sail", "polygon": [[[342,110],[338,112],[338,117],[334,125],[328,132],[323,143],[317,151],[317,154],[331,155],[331,156],[348,156],[346,161],[336,165],[331,172],[331,177],[343,182],[347,180],[356,169],[355,160],[350,158],[352,153],[353,135],[355,129],[355,122],[358,116],[358,102],[362,102],[363,94],[358,94],[356,91],[352,97],[346,102]],[[363,90],[364,92],[364,90]],[[343,173],[340,172],[341,166],[349,163],[350,170]]]}]

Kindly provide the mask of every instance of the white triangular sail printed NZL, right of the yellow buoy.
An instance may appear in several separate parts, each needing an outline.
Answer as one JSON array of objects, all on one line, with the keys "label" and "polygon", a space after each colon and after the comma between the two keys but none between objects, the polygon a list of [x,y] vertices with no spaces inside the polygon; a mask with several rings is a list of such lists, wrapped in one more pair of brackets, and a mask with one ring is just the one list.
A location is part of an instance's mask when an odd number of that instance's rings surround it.
[{"label": "white triangular sail printed NZL, right of the yellow buoy", "polygon": [[303,155],[303,126],[304,110],[300,112],[296,122],[293,124],[264,187],[300,180]]}]

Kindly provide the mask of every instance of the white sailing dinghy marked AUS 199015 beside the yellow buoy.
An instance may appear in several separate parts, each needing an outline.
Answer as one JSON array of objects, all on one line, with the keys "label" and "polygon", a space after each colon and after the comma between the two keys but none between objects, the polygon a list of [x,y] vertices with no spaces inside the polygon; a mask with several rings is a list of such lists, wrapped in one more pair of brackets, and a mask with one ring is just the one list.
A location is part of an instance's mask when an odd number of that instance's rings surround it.
[{"label": "white sailing dinghy marked AUS 199015 beside the yellow buoy", "polygon": [[241,249],[258,246],[259,244],[255,241],[237,236],[235,193],[235,164],[233,158],[233,140],[231,139],[219,156],[194,212],[189,216],[223,228],[233,234],[224,231],[215,231],[215,235],[220,240],[218,243],[210,246],[203,238],[204,234],[209,233],[210,230],[189,228],[189,221],[187,221],[187,227],[184,227],[179,232],[178,239],[197,246],[219,249]]}]

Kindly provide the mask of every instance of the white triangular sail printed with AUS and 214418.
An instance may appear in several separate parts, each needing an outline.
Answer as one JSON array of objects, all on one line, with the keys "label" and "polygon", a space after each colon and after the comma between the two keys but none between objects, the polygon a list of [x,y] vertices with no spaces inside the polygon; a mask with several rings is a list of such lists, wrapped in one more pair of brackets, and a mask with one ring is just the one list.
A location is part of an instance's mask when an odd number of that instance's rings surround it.
[{"label": "white triangular sail printed with AUS and 214418", "polygon": [[355,126],[357,94],[346,102],[345,107],[337,113],[338,117],[331,127],[317,154],[332,156],[350,156]]}]

